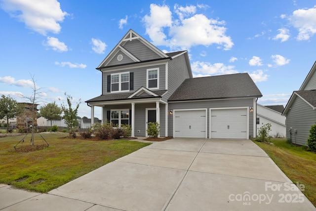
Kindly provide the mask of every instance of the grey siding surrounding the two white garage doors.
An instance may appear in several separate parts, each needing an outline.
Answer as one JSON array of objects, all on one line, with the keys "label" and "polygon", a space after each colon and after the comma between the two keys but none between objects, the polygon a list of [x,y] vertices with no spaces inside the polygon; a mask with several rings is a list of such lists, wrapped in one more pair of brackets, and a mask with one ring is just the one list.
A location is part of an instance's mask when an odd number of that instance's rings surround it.
[{"label": "grey siding surrounding the two white garage doors", "polygon": [[[237,108],[237,107],[253,107],[253,98],[247,99],[232,99],[232,100],[204,100],[204,101],[186,101],[186,102],[170,102],[169,110],[174,109],[207,109],[207,130],[209,128],[209,108]],[[168,136],[173,134],[173,117],[168,115]],[[249,113],[249,136],[253,137],[253,113]],[[207,131],[209,137],[209,131]]]}]

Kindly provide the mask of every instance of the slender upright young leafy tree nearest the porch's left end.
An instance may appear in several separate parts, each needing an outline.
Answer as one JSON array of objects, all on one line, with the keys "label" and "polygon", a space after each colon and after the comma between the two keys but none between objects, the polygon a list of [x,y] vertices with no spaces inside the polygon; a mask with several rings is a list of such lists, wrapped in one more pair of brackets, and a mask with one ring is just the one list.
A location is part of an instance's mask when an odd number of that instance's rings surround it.
[{"label": "slender upright young leafy tree nearest the porch's left end", "polygon": [[67,94],[66,92],[65,92],[65,96],[67,98],[68,106],[62,103],[61,109],[64,112],[65,124],[68,126],[68,131],[69,131],[69,136],[70,136],[73,127],[76,127],[78,125],[77,114],[78,114],[79,105],[81,103],[81,99],[79,99],[79,102],[77,102],[76,108],[73,109],[72,103],[71,103],[71,101],[73,100],[73,97]]}]

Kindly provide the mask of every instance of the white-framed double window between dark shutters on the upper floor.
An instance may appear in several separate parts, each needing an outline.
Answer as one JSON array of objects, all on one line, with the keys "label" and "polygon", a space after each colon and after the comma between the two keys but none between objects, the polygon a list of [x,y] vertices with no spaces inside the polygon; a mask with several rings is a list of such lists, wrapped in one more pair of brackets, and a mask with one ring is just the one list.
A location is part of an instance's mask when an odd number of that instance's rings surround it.
[{"label": "white-framed double window between dark shutters on the upper floor", "polygon": [[111,74],[111,92],[129,91],[129,72]]}]

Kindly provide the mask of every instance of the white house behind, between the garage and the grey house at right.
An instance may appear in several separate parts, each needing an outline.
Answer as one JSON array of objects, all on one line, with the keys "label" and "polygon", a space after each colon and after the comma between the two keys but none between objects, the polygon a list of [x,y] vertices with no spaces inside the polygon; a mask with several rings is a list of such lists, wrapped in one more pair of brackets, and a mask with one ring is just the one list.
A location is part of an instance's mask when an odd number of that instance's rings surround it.
[{"label": "white house behind, between the garage and the grey house at right", "polygon": [[[263,106],[257,104],[257,128],[266,125],[267,123],[271,124],[271,131],[269,135],[272,137],[285,137],[286,136],[286,126],[285,126],[285,117],[282,116],[284,110],[283,105],[275,106]],[[257,130],[258,134],[258,130]]]}]

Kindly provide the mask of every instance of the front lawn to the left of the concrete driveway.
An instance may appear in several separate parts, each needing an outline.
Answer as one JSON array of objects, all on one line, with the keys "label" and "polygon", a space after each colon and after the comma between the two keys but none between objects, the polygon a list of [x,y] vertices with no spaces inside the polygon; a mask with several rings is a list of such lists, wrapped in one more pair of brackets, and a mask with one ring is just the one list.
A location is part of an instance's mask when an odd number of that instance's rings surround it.
[{"label": "front lawn to the left of the concrete driveway", "polygon": [[[61,134],[42,134],[50,144],[43,150],[15,152],[24,137],[0,138],[0,183],[47,193],[83,174],[97,169],[150,143],[128,140],[91,141],[70,139]],[[18,147],[29,145],[27,135]],[[36,134],[35,144],[42,144]]]}]

